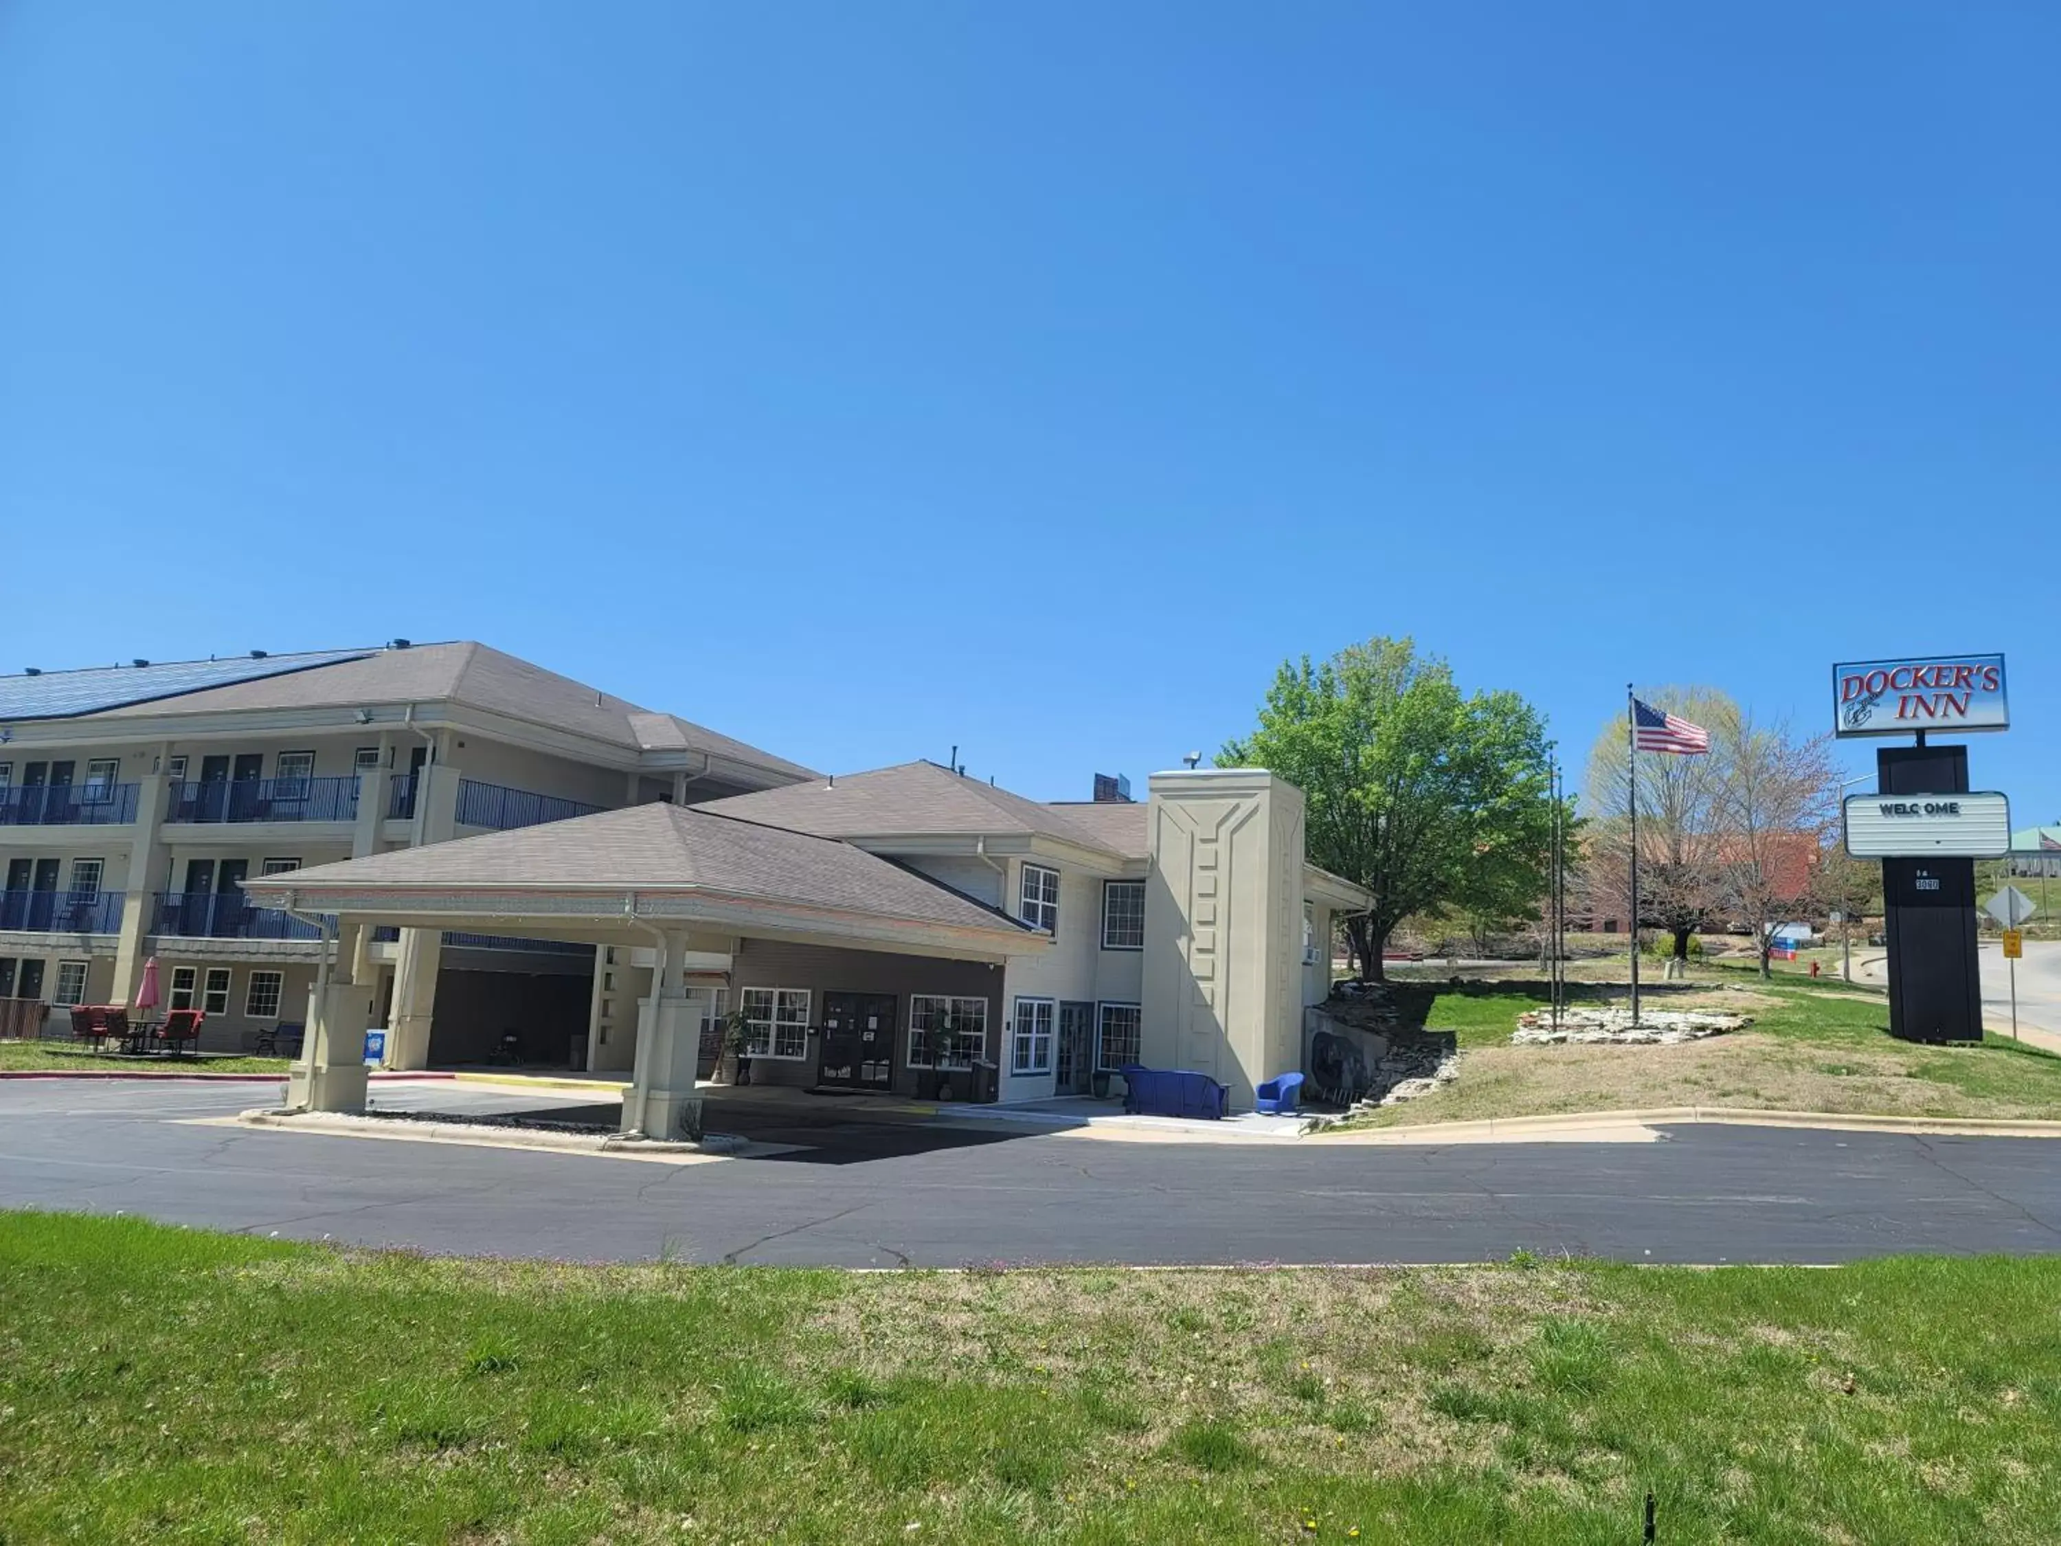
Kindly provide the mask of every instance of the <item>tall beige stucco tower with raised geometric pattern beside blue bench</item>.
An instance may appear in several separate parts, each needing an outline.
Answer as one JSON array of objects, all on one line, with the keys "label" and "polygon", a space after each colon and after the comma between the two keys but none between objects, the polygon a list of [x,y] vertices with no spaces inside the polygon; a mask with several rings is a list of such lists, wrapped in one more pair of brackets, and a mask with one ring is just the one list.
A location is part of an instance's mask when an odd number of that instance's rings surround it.
[{"label": "tall beige stucco tower with raised geometric pattern beside blue bench", "polygon": [[1300,1066],[1303,792],[1265,771],[1154,773],[1144,1062],[1193,1068],[1249,1109]]}]

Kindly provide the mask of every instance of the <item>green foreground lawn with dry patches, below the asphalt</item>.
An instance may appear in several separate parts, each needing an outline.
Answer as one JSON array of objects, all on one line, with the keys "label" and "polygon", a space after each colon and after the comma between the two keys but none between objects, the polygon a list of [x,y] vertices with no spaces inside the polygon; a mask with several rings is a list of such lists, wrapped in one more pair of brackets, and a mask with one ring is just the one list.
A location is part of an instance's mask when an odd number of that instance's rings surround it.
[{"label": "green foreground lawn with dry patches, below the asphalt", "polygon": [[831,1274],[0,1214],[0,1542],[2053,1540],[2061,1262]]}]

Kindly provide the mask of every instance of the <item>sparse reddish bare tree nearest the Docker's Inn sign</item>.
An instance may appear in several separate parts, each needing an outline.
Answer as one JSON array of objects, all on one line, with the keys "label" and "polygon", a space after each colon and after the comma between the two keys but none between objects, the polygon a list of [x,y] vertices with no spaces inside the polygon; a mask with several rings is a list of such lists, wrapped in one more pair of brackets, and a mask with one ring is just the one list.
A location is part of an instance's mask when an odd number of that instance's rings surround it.
[{"label": "sparse reddish bare tree nearest the Docker's Inn sign", "polygon": [[1775,926],[1812,899],[1812,882],[1838,812],[1832,738],[1797,740],[1787,724],[1742,713],[1713,736],[1723,777],[1723,860],[1731,917],[1754,936],[1768,977]]}]

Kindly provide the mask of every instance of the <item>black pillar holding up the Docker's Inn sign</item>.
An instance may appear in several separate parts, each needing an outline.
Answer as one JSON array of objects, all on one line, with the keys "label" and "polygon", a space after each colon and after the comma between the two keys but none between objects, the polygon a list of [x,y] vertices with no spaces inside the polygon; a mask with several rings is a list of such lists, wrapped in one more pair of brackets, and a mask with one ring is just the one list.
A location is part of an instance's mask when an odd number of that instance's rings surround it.
[{"label": "black pillar holding up the Docker's Inn sign", "polygon": [[[1884,746],[1882,794],[1966,794],[1966,746]],[[1884,860],[1890,938],[1890,1035],[1981,1041],[1983,977],[1974,954],[1974,860]]]}]

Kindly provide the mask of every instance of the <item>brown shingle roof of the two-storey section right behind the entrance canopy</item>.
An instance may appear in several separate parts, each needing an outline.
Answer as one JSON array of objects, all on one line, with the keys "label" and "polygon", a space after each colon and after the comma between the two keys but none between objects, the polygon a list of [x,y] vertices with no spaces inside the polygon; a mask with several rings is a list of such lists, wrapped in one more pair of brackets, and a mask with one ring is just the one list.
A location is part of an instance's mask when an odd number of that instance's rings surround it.
[{"label": "brown shingle roof of the two-storey section right behind the entrance canopy", "polygon": [[[837,779],[812,779],[779,789],[738,794],[711,800],[703,810],[744,816],[798,833],[820,837],[915,837],[952,835],[977,837],[1014,833],[1051,837],[1103,853],[1136,858],[1131,849],[1115,847],[1101,829],[1072,818],[1076,808],[1045,806],[991,783],[952,773],[938,763],[901,763],[849,773]],[[1144,806],[1138,806],[1142,812]],[[1142,822],[1140,847],[1142,853]]]}]

